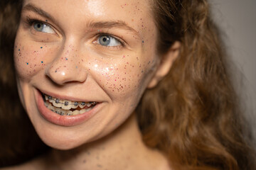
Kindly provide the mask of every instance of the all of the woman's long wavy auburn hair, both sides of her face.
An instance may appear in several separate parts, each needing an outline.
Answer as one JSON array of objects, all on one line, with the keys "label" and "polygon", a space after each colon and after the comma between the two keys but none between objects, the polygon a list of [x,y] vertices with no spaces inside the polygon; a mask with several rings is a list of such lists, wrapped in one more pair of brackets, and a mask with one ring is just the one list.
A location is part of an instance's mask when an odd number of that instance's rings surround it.
[{"label": "all of the woman's long wavy auburn hair, both sides of her face", "polygon": [[[48,147],[33,130],[16,89],[13,49],[21,2],[0,3],[0,166],[8,166]],[[137,106],[145,144],[161,150],[174,169],[254,169],[254,152],[245,141],[228,60],[207,1],[151,0],[151,5],[159,54],[176,41],[181,51],[169,74],[147,89]]]}]

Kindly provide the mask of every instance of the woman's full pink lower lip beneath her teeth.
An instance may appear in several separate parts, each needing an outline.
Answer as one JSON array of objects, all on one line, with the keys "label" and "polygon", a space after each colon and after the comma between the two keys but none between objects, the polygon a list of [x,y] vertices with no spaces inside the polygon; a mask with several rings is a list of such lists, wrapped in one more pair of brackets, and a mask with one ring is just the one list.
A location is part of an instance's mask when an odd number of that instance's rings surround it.
[{"label": "woman's full pink lower lip beneath her teeth", "polygon": [[100,106],[100,103],[98,103],[90,111],[87,111],[80,115],[58,115],[57,113],[54,113],[53,111],[50,111],[48,108],[46,108],[40,91],[36,92],[36,103],[38,106],[38,110],[43,118],[45,118],[50,123],[63,126],[75,126],[84,123],[99,110]]}]

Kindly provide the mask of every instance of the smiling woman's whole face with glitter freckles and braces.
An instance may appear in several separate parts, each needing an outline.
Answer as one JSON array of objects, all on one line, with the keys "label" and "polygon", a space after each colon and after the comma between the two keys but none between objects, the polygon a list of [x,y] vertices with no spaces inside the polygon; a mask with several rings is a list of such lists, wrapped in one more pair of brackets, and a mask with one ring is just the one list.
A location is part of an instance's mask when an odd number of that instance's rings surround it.
[{"label": "smiling woman's whole face with glitter freckles and braces", "polygon": [[124,123],[159,65],[155,47],[146,0],[24,1],[14,60],[41,139],[70,149]]}]

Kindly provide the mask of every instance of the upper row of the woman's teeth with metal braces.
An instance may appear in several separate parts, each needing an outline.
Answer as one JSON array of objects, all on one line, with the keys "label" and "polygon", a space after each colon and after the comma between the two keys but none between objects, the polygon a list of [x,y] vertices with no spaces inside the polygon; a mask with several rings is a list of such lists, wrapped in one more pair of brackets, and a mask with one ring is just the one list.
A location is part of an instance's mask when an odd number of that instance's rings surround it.
[{"label": "upper row of the woman's teeth with metal braces", "polygon": [[59,98],[54,98],[52,96],[48,96],[44,94],[46,101],[49,101],[53,104],[53,106],[58,108],[63,108],[64,110],[70,110],[70,108],[85,108],[87,106],[90,108],[90,106],[95,105],[96,102],[78,102],[78,101],[63,101]]}]

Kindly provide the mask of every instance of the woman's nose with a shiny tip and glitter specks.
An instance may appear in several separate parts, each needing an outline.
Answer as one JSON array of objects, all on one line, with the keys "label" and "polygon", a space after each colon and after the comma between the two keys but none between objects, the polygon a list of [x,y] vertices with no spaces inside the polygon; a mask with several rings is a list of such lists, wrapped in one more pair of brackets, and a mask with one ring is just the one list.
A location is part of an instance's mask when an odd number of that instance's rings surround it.
[{"label": "woman's nose with a shiny tip and glitter specks", "polygon": [[[70,48],[70,47],[68,47]],[[82,83],[87,79],[87,70],[79,62],[77,50],[63,48],[45,70],[46,76],[55,84]]]}]

